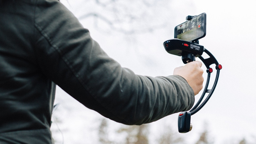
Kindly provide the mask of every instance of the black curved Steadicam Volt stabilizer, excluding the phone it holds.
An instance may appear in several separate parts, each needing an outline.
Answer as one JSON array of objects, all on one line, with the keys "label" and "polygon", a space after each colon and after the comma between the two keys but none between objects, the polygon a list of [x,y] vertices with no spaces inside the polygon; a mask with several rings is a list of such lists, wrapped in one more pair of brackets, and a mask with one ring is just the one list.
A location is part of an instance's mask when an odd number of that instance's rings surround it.
[{"label": "black curved Steadicam Volt stabilizer, excluding the phone it holds", "polygon": [[[206,104],[206,102],[208,102],[211,95],[213,94],[219,79],[219,73],[220,73],[220,70],[222,69],[222,66],[218,63],[215,57],[207,49],[204,48],[204,46],[199,45],[198,40],[194,42],[188,42],[188,41],[174,38],[174,39],[165,41],[163,43],[163,46],[168,53],[174,54],[177,56],[182,56],[182,61],[184,64],[187,64],[191,61],[195,61],[195,58],[198,57],[199,59],[201,59],[201,61],[204,63],[204,65],[207,68],[206,84],[200,99],[194,105],[194,107],[192,107],[190,111],[181,112],[178,116],[178,131],[180,133],[187,133],[192,129],[192,124],[190,123],[191,116],[196,112],[198,112],[200,109],[202,109],[202,107]],[[209,58],[204,59],[202,57],[203,52],[205,52],[209,56]],[[213,72],[213,69],[210,68],[210,65],[212,64],[215,64],[215,68],[217,71],[216,71],[214,84],[211,89],[208,89],[210,76],[211,76],[211,73]],[[209,94],[205,98],[205,100],[202,102],[206,93],[209,93]]]}]

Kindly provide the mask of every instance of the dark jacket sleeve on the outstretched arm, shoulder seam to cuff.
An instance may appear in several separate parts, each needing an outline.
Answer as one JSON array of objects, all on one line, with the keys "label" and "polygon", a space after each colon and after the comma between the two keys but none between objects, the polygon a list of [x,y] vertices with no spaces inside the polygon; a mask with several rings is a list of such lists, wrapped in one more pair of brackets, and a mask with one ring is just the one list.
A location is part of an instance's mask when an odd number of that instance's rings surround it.
[{"label": "dark jacket sleeve on the outstretched arm, shoulder seam to cuff", "polygon": [[58,1],[38,1],[34,39],[41,71],[109,119],[140,125],[194,104],[194,92],[182,77],[139,76],[122,68]]}]

